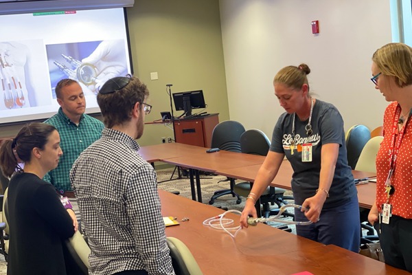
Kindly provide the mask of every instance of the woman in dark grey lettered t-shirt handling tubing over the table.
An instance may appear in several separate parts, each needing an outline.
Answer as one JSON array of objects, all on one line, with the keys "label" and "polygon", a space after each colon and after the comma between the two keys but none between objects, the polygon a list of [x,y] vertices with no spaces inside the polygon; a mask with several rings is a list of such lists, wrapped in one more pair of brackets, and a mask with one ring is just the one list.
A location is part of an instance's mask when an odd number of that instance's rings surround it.
[{"label": "woman in dark grey lettered t-shirt handling tubing over the table", "polygon": [[277,175],[286,158],[293,167],[295,203],[310,210],[295,210],[299,236],[325,245],[334,244],[358,252],[361,236],[358,197],[347,165],[343,119],[332,104],[309,95],[308,65],[281,69],[273,80],[275,96],[286,113],[280,115],[271,149],[259,170],[240,223],[256,217],[255,202]]}]

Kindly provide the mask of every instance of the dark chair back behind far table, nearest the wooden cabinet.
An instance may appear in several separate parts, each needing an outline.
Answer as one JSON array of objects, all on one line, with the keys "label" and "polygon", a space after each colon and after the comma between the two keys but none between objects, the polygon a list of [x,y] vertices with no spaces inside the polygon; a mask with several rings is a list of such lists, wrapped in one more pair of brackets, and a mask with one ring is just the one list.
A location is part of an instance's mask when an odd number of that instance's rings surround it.
[{"label": "dark chair back behind far table, nearest the wooden cabinet", "polygon": [[211,148],[242,153],[240,136],[244,126],[237,121],[227,120],[216,125],[211,135]]}]

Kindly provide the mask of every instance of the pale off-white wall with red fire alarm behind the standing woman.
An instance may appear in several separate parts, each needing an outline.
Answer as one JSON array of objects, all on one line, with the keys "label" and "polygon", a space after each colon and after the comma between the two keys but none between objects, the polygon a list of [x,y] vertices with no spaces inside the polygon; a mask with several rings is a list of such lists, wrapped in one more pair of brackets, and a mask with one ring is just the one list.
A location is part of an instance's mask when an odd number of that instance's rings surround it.
[{"label": "pale off-white wall with red fire alarm behind the standing woman", "polygon": [[371,56],[391,42],[389,1],[220,0],[220,14],[232,120],[271,137],[284,113],[273,77],[306,63],[310,90],[339,109],[346,131],[382,125],[389,103],[371,83]]}]

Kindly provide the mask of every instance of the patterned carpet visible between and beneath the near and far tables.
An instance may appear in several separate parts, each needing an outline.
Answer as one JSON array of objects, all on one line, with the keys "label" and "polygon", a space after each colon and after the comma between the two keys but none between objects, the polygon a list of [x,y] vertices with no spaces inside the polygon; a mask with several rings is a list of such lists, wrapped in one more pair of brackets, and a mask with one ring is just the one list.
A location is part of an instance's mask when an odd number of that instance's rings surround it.
[{"label": "patterned carpet visible between and beneath the near and far tables", "polygon": [[[164,181],[170,179],[172,176],[174,168],[168,168],[168,169],[163,169],[163,170],[157,170],[157,181]],[[177,172],[174,173],[173,178],[176,179],[177,177]],[[222,181],[225,180],[226,177],[220,176],[220,175],[201,175],[201,187],[202,187],[202,200],[203,203],[208,204],[211,196],[214,194],[215,191],[217,190],[222,190],[222,189],[229,189],[229,181]],[[218,183],[218,181],[222,181]],[[236,183],[242,182],[240,180],[237,180]],[[159,183],[158,187],[161,190],[165,190],[168,192],[180,192],[180,196],[186,197],[188,199],[192,199],[192,192],[190,190],[190,179],[187,177],[183,177],[183,179],[176,179],[173,181],[166,181],[163,183]],[[197,195],[197,193],[196,193]],[[292,196],[293,193],[292,191],[286,191],[285,196]],[[287,201],[288,203],[293,203],[293,201]],[[236,197],[232,197],[231,195],[226,195],[222,197],[218,197],[214,201],[213,206],[216,207],[226,207],[228,210],[239,210],[242,211],[244,208],[244,205],[246,203],[246,198],[242,197],[242,202],[240,204],[236,204]],[[277,206],[271,206],[271,208],[277,208]],[[293,211],[290,208],[288,211]],[[290,217],[283,217],[280,218],[285,221],[291,221],[292,218]],[[281,225],[285,225],[285,223],[275,223],[275,222],[269,222],[269,225],[273,227],[278,227]],[[295,225],[288,225],[289,228],[292,228],[292,232],[296,234],[296,229]]]}]

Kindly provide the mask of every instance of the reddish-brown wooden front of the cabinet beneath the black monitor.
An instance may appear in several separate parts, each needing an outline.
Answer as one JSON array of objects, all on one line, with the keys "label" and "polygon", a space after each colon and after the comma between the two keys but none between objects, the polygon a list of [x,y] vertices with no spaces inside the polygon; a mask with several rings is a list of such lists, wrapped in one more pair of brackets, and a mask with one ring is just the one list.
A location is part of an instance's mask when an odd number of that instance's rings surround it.
[{"label": "reddish-brown wooden front of the cabinet beneath the black monitor", "polygon": [[205,147],[201,120],[175,121],[176,142]]}]

